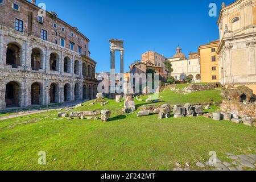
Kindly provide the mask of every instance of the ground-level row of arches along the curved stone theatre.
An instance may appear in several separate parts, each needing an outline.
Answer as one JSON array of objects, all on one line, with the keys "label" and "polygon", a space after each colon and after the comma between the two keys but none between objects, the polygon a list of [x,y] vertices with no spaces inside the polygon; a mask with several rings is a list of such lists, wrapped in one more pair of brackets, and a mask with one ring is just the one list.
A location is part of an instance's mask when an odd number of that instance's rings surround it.
[{"label": "ground-level row of arches along the curved stone theatre", "polygon": [[[48,86],[48,104],[69,101],[85,101],[96,98],[97,85],[92,84],[57,84],[53,82]],[[18,81],[5,84],[5,108],[25,107],[33,105],[46,105],[46,85],[33,82],[24,88]],[[26,104],[26,96],[30,97]]]}]

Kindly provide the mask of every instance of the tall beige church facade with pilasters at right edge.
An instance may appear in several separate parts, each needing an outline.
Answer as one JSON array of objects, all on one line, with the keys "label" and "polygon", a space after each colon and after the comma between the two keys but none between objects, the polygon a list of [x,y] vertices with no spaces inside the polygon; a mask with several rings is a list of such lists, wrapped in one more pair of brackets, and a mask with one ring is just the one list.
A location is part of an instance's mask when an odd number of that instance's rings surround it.
[{"label": "tall beige church facade with pilasters at right edge", "polygon": [[256,0],[237,0],[228,6],[223,3],[217,23],[220,82],[246,85],[256,93]]}]

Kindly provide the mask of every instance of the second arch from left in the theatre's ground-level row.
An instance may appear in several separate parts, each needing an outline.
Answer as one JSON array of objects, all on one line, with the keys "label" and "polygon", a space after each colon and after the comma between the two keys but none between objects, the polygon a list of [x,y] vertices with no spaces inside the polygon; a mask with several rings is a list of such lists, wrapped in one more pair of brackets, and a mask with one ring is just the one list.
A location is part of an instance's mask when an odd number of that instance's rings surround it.
[{"label": "second arch from left in the theatre's ground-level row", "polygon": [[34,82],[31,84],[30,90],[31,105],[42,105],[43,104],[43,89],[42,84]]}]

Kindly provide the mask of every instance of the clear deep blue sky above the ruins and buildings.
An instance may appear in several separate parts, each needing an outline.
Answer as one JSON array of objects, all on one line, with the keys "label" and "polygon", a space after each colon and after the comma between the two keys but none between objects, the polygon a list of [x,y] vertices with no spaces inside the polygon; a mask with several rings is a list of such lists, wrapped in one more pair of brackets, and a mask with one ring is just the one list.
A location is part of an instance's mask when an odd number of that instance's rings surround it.
[{"label": "clear deep blue sky above the ruins and buildings", "polygon": [[[29,0],[30,1],[30,0]],[[235,0],[226,0],[226,5]],[[109,38],[124,40],[125,71],[141,54],[156,51],[172,57],[178,45],[185,55],[201,44],[218,39],[217,18],[220,0],[44,0],[48,11],[90,39],[91,57],[96,72],[110,71]],[[209,3],[217,4],[217,17],[208,15]],[[116,68],[119,71],[119,53]]]}]

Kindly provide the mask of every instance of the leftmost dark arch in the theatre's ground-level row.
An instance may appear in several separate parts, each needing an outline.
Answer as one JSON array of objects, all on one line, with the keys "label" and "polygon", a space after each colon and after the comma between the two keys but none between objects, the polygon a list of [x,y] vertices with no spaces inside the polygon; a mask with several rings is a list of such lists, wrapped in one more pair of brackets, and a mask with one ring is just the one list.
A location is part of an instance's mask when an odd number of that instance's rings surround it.
[{"label": "leftmost dark arch in the theatre's ground-level row", "polygon": [[6,107],[20,107],[21,89],[20,83],[10,81],[6,84],[5,105]]}]

